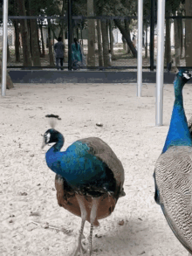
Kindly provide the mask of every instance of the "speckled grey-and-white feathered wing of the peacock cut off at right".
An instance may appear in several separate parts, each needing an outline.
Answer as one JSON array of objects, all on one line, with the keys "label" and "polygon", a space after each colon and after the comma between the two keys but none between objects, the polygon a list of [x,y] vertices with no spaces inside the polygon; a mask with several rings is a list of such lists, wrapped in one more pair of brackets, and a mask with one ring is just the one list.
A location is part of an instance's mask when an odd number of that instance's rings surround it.
[{"label": "speckled grey-and-white feathered wing of the peacock cut off at right", "polygon": [[192,148],[171,147],[155,165],[155,199],[168,225],[192,253]]}]

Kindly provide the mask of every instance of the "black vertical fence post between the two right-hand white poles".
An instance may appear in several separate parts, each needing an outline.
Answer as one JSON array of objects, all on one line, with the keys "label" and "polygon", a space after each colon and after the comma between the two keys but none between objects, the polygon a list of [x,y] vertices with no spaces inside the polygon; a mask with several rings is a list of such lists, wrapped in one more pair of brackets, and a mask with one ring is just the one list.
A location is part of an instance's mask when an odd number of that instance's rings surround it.
[{"label": "black vertical fence post between the two right-hand white poles", "polygon": [[150,71],[154,71],[154,0],[151,0]]}]

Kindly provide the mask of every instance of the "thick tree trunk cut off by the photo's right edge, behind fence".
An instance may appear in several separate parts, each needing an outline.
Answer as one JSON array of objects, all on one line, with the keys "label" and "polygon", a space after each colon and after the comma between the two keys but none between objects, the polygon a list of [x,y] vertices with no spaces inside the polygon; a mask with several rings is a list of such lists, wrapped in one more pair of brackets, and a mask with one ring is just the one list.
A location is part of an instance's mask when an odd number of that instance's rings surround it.
[{"label": "thick tree trunk cut off by the photo's right edge, behind fence", "polygon": [[[186,16],[192,16],[192,2],[191,0],[185,0]],[[192,66],[192,25],[191,19],[186,18],[186,66]]]}]

